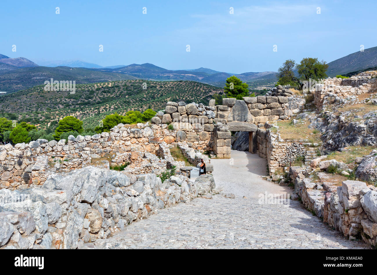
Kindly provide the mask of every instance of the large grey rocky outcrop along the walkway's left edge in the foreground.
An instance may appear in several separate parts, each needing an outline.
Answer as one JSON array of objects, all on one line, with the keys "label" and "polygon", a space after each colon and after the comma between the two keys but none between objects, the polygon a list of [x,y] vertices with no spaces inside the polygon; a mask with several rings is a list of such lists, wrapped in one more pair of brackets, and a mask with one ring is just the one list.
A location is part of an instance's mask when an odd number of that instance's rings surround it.
[{"label": "large grey rocky outcrop along the walkway's left edge in the foreground", "polygon": [[215,183],[202,180],[175,175],[162,183],[155,174],[129,178],[88,166],[50,175],[41,188],[2,189],[0,247],[80,248],[158,209],[212,192]]}]

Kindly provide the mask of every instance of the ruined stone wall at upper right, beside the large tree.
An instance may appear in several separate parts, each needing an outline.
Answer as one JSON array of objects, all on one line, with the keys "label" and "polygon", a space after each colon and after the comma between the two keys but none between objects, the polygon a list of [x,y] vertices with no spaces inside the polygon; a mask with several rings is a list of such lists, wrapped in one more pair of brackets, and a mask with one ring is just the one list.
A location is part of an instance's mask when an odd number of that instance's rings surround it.
[{"label": "ruined stone wall at upper right, beside the large tree", "polygon": [[316,84],[314,105],[322,111],[323,105],[328,105],[332,98],[348,97],[377,91],[377,78],[362,73],[350,78],[326,78],[324,84]]}]

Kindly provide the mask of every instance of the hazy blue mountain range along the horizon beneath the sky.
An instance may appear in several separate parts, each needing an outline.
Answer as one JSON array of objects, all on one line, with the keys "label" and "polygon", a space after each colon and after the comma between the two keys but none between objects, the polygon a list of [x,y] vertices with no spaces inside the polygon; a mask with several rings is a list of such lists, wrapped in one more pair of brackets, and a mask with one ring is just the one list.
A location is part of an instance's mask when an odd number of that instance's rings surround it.
[{"label": "hazy blue mountain range along the horizon beneath the sky", "polygon": [[[248,83],[250,89],[269,88],[277,81],[276,72],[273,71],[232,74],[208,68],[169,70],[150,63],[102,67],[95,63],[80,60],[34,61],[38,63],[24,57],[9,58],[0,54],[0,92],[15,92],[43,84],[45,80],[50,78],[75,80],[76,83],[132,79],[191,80],[222,88],[228,77],[236,75],[236,77]],[[364,52],[354,52],[334,60],[328,65],[327,74],[330,77],[377,67],[377,47],[365,49]]]}]

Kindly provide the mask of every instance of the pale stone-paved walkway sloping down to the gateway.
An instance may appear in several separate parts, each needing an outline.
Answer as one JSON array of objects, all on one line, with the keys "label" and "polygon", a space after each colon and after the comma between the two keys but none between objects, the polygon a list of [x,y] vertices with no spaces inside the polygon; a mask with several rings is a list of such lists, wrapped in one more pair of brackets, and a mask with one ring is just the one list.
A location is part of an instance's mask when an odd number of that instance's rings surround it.
[{"label": "pale stone-paved walkway sloping down to the gateway", "polygon": [[368,248],[329,230],[298,201],[259,204],[261,193],[289,190],[261,178],[264,159],[238,151],[231,156],[211,163],[216,186],[236,198],[219,194],[179,203],[86,248]]}]

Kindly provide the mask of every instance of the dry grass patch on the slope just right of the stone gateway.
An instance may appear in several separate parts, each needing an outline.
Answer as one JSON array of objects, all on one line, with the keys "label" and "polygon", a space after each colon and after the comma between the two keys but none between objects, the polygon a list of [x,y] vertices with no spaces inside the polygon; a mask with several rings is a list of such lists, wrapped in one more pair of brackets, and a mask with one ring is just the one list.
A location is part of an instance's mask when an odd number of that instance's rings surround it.
[{"label": "dry grass patch on the slope just right of the stone gateway", "polygon": [[308,140],[310,143],[320,143],[321,134],[314,130],[309,129],[309,121],[301,124],[293,124],[293,120],[277,121],[279,126],[280,137],[284,140]]}]

